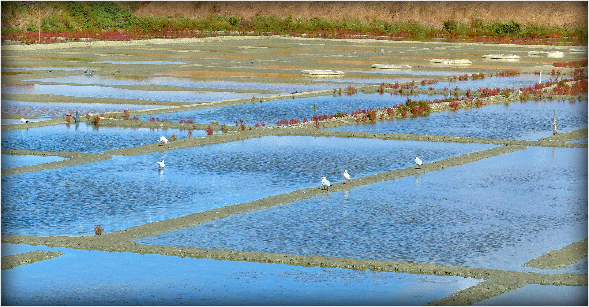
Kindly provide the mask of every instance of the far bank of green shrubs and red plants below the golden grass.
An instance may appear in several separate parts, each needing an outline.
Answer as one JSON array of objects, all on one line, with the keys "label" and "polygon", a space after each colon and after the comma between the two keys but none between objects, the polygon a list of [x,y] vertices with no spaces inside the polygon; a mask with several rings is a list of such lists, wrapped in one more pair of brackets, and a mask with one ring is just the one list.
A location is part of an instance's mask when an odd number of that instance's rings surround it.
[{"label": "far bank of green shrubs and red plants below the golden grass", "polygon": [[20,1],[3,1],[0,12],[2,41],[10,39],[31,44],[38,42],[34,34],[38,35],[39,21],[43,32],[41,42],[54,42],[57,37],[118,40],[222,35],[201,31],[322,38],[356,38],[358,34],[364,34],[380,39],[459,39],[507,44],[578,44],[586,41],[588,36],[583,22],[567,26],[522,24],[514,20],[487,21],[479,14],[471,14],[467,22],[445,19],[436,27],[420,21],[373,19],[367,22],[317,16],[293,18],[293,15],[254,15],[249,18],[222,14],[209,14],[204,18],[134,15],[131,9],[112,1],[40,1],[33,6]]}]

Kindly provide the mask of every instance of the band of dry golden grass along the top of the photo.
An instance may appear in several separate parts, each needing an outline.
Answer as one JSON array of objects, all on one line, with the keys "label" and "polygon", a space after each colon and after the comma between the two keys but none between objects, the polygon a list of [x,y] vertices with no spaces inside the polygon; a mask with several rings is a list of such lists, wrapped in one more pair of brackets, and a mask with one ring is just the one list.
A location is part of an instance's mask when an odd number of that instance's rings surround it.
[{"label": "band of dry golden grass along the top of the photo", "polygon": [[515,21],[539,25],[587,25],[587,1],[120,1],[135,15],[252,18],[256,15],[317,16],[326,19],[421,21],[441,26],[445,19],[469,22]]}]

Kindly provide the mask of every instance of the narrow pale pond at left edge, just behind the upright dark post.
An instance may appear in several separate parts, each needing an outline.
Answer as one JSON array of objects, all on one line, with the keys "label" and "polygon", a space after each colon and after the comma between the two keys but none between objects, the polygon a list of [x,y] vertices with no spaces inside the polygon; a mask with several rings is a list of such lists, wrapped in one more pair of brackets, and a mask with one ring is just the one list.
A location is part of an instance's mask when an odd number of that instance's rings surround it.
[{"label": "narrow pale pond at left edge, just behind the upright dark post", "polygon": [[[142,110],[154,108],[153,105],[127,105],[127,104],[88,104],[88,103],[75,103],[75,102],[29,102],[29,101],[14,101],[9,99],[2,99],[2,113],[12,114],[27,114],[37,116],[47,116],[47,118],[64,116],[67,114],[75,115],[75,111],[78,111],[80,116],[84,116],[87,113],[105,113],[108,115],[109,112],[120,112],[126,109],[130,110]],[[157,105],[157,108],[163,108],[167,105]],[[4,121],[4,119],[2,119]],[[28,119],[29,121],[35,121],[39,119]],[[65,118],[64,118],[65,120]],[[16,121],[20,122],[20,119]],[[74,122],[74,119],[71,120]],[[2,124],[8,124],[8,122]]]}]

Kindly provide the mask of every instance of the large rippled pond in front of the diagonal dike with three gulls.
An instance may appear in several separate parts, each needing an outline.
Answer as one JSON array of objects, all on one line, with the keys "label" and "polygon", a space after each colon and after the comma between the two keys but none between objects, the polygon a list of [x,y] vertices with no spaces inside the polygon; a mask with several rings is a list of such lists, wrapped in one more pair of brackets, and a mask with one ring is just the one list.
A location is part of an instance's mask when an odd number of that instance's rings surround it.
[{"label": "large rippled pond in front of the diagonal dike with three gulls", "polygon": [[587,149],[531,147],[136,241],[548,272],[522,265],[586,236]]}]

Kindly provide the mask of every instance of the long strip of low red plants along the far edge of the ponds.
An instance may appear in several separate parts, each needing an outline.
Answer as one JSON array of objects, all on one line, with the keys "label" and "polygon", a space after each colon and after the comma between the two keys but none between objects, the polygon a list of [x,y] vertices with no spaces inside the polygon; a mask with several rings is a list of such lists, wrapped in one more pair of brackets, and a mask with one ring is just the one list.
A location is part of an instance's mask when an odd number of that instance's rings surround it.
[{"label": "long strip of low red plants along the far edge of the ponds", "polygon": [[201,31],[187,29],[167,29],[160,31],[132,30],[80,30],[80,31],[42,31],[39,41],[39,32],[8,32],[3,31],[0,41],[21,41],[25,44],[52,44],[68,41],[128,41],[131,39],[161,39],[161,38],[203,38],[212,36],[260,36],[260,35],[284,35],[309,38],[340,38],[340,39],[379,39],[386,41],[436,41],[445,39],[448,42],[479,42],[486,44],[528,44],[528,45],[581,45],[581,38],[542,38],[538,36],[484,36],[484,35],[455,35],[430,32],[426,35],[413,35],[409,32],[386,33],[384,31],[358,32],[348,30],[315,30],[303,32],[290,31],[256,31],[256,29],[243,29],[237,31]]}]

